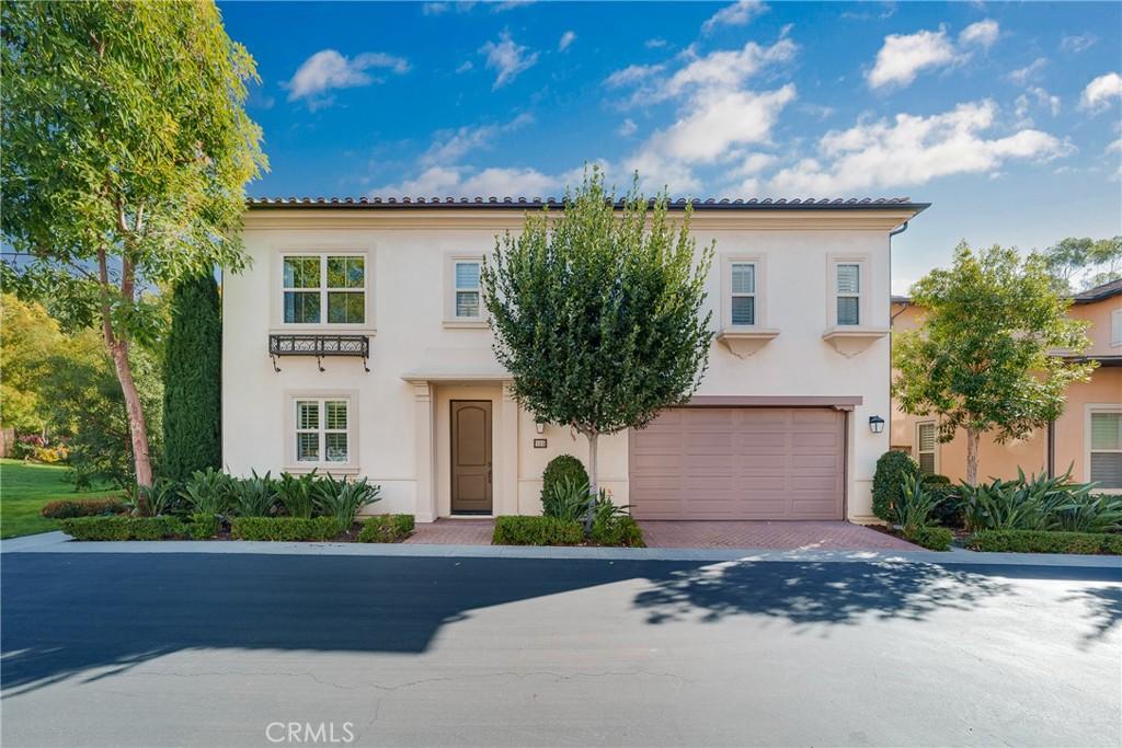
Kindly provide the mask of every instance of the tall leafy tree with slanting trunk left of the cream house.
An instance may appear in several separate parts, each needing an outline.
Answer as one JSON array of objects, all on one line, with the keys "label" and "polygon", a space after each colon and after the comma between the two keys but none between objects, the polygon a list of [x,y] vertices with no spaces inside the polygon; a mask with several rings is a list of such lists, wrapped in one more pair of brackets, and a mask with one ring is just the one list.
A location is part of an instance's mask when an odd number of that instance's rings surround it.
[{"label": "tall leafy tree with slanting trunk left of the cream house", "polygon": [[210,0],[11,0],[0,13],[2,227],[24,255],[9,269],[65,318],[100,327],[136,480],[150,486],[129,352],[157,315],[140,292],[245,262],[243,186],[266,167],[243,109],[254,61]]}]

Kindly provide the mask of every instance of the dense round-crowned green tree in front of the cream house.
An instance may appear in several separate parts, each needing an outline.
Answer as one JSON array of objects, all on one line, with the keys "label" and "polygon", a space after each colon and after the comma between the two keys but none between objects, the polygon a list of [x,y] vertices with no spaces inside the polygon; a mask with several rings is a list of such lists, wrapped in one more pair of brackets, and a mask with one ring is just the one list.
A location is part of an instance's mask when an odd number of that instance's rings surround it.
[{"label": "dense round-crowned green tree in front of the cream house", "polygon": [[530,214],[519,234],[497,239],[482,271],[514,396],[588,438],[594,496],[600,435],[642,428],[689,399],[712,340],[701,312],[712,247],[695,264],[690,210],[671,222],[665,195],[652,203],[637,184],[617,203],[594,169],[560,215]]}]

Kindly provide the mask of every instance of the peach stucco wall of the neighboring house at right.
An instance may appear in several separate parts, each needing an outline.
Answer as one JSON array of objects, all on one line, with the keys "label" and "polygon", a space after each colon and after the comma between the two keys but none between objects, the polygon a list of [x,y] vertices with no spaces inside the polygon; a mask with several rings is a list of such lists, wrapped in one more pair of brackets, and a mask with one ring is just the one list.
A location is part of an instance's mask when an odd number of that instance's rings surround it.
[{"label": "peach stucco wall of the neighboring house at right", "polygon": [[[1073,306],[1073,317],[1089,320],[1088,336],[1093,348],[1088,355],[1122,354],[1120,347],[1111,347],[1111,312],[1122,307],[1122,297]],[[893,303],[895,318],[893,331],[911,330],[920,324],[922,310]],[[1122,368],[1102,367],[1095,370],[1089,382],[1073,385],[1067,393],[1064,415],[1056,421],[1056,471],[1063,473],[1072,467],[1072,477],[1086,481],[1086,427],[1088,405],[1122,404]],[[892,401],[892,445],[904,447],[916,455],[916,424],[935,421],[935,416],[911,416],[900,410],[899,403]],[[953,481],[966,477],[966,438],[959,433],[950,442],[938,445],[937,470]],[[1000,444],[993,438],[982,437],[978,450],[978,478],[1012,478],[1018,468],[1024,472],[1040,472],[1048,464],[1047,428],[1038,428],[1021,440]]]}]

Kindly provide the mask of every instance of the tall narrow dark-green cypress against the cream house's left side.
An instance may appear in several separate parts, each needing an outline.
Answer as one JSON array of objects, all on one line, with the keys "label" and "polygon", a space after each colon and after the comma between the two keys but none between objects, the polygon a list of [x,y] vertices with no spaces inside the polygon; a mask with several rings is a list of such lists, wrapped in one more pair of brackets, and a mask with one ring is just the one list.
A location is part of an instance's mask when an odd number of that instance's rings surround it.
[{"label": "tall narrow dark-green cypress against the cream house's left side", "polygon": [[184,278],[172,294],[163,467],[174,480],[222,467],[222,313],[210,271]]}]

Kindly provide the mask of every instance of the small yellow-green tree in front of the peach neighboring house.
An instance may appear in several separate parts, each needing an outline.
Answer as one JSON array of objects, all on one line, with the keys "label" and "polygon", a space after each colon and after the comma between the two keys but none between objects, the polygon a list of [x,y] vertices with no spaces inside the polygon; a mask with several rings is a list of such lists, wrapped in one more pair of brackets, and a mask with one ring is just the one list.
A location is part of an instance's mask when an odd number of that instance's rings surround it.
[{"label": "small yellow-green tree in front of the peach neighboring house", "polygon": [[966,431],[966,482],[977,482],[978,441],[1020,438],[1059,417],[1065,393],[1093,362],[1073,357],[1089,341],[1087,323],[1051,285],[1045,259],[1017,250],[955,251],[954,267],[912,287],[927,311],[920,327],[893,340],[892,394],[912,415],[939,415],[939,441]]}]

